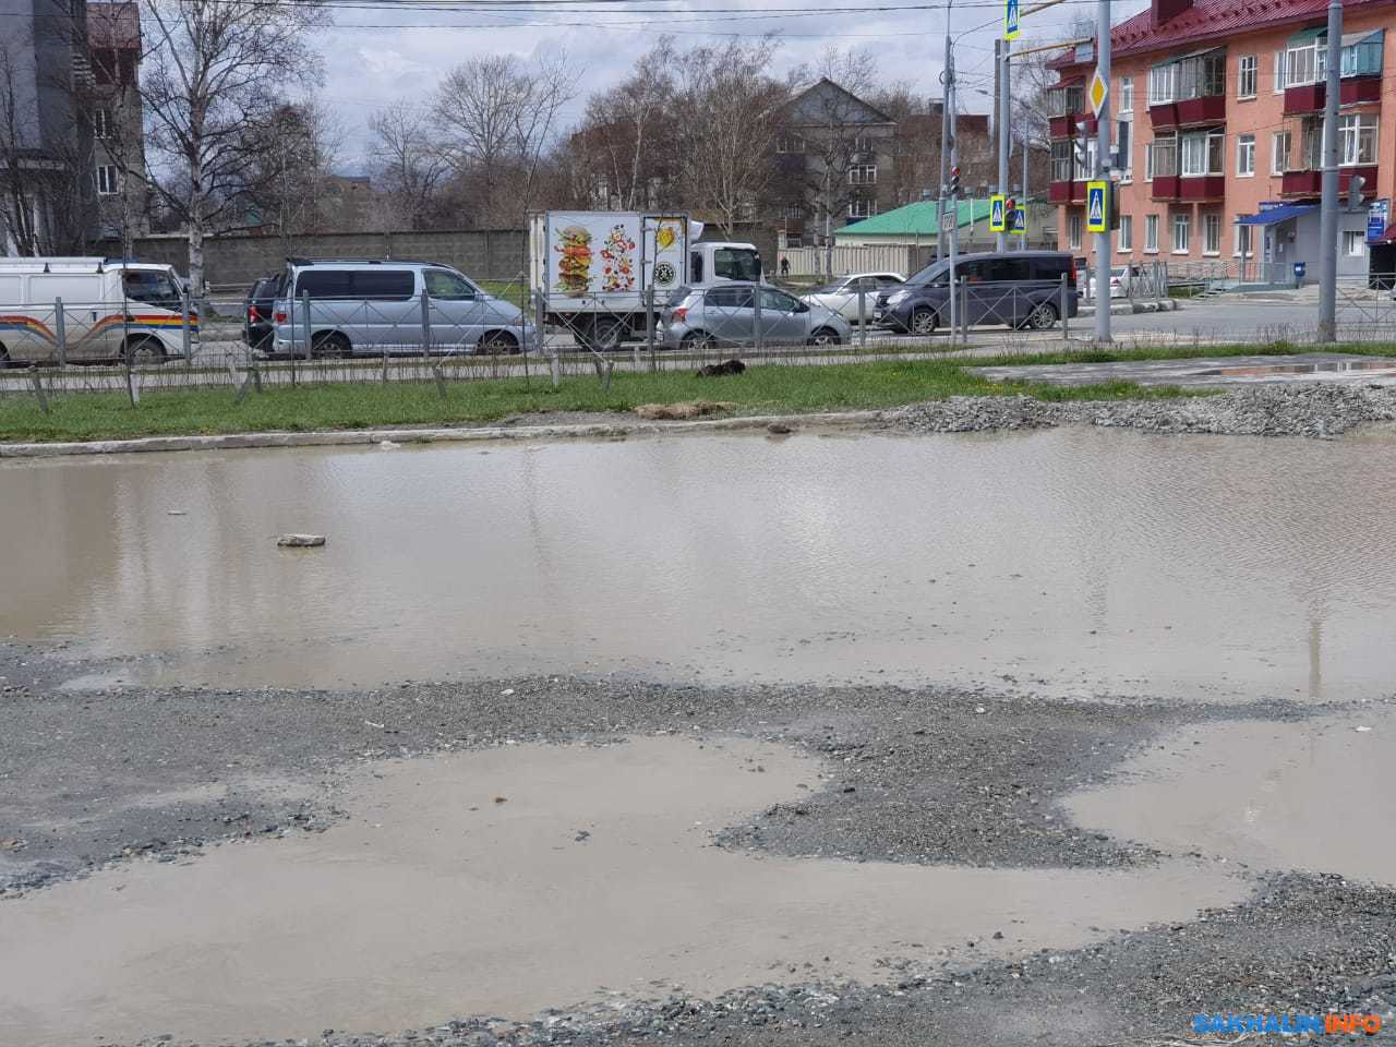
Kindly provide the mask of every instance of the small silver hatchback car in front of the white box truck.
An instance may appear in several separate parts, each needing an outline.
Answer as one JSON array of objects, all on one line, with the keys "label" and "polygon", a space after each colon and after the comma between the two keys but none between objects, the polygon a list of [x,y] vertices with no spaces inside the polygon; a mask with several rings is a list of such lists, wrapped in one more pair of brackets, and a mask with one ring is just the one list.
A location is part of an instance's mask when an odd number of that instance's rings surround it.
[{"label": "small silver hatchback car in front of the white box truck", "polygon": [[667,349],[752,345],[759,296],[761,341],[768,345],[842,345],[853,328],[825,306],[811,306],[765,283],[680,288],[660,314]]}]

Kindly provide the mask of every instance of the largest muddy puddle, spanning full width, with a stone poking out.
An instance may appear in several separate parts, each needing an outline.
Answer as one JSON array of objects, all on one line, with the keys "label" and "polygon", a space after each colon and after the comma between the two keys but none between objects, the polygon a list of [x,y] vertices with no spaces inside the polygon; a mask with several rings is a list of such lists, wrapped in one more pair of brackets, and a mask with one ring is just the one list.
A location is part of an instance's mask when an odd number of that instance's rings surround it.
[{"label": "largest muddy puddle, spanning full width, with a stone poking out", "polygon": [[[285,530],[328,546],[276,549]],[[1347,699],[1396,676],[1382,433],[11,462],[0,533],[0,634],[148,655],[107,681],[621,671]]]}]

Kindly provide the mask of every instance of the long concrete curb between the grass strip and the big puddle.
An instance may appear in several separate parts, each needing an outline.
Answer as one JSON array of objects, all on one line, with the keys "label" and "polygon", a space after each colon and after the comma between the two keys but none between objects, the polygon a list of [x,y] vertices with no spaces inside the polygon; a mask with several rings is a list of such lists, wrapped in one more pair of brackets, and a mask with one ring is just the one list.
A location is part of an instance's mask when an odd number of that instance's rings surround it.
[{"label": "long concrete curb between the grass strip and the big puddle", "polygon": [[483,426],[479,429],[353,429],[317,433],[226,433],[222,436],[138,437],[134,440],[80,440],[66,443],[0,444],[0,459],[67,458],[71,455],[147,454],[156,451],[229,451],[261,447],[371,447],[394,444],[484,443],[497,440],[604,440],[666,433],[734,433],[790,426],[861,424],[875,422],[881,410],[825,412],[818,415],[745,415],[691,422],[596,422],[577,426]]}]

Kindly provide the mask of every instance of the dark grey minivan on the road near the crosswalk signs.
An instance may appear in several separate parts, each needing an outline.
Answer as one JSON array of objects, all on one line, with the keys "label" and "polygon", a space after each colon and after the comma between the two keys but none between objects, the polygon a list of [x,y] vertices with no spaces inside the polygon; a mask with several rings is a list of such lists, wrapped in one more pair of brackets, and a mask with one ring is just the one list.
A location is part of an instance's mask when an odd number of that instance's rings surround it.
[{"label": "dark grey minivan on the road near the crosswalk signs", "polygon": [[[966,254],[955,260],[955,279],[966,285],[967,321],[1046,331],[1061,318],[1061,278],[1067,276],[1067,315],[1076,315],[1076,265],[1065,251]],[[949,260],[931,262],[899,288],[878,295],[872,321],[892,331],[928,335],[951,322]],[[956,317],[958,320],[959,317]]]}]

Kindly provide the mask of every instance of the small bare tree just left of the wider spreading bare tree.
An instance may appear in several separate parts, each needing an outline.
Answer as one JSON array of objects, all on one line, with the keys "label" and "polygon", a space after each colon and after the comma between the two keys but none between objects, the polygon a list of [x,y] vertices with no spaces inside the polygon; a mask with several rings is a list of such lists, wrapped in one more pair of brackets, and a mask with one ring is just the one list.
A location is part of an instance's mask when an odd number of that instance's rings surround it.
[{"label": "small bare tree just left of the wider spreading bare tree", "polygon": [[373,177],[385,216],[409,229],[424,228],[436,215],[451,170],[436,147],[430,114],[398,102],[369,117],[369,130],[374,134]]}]

